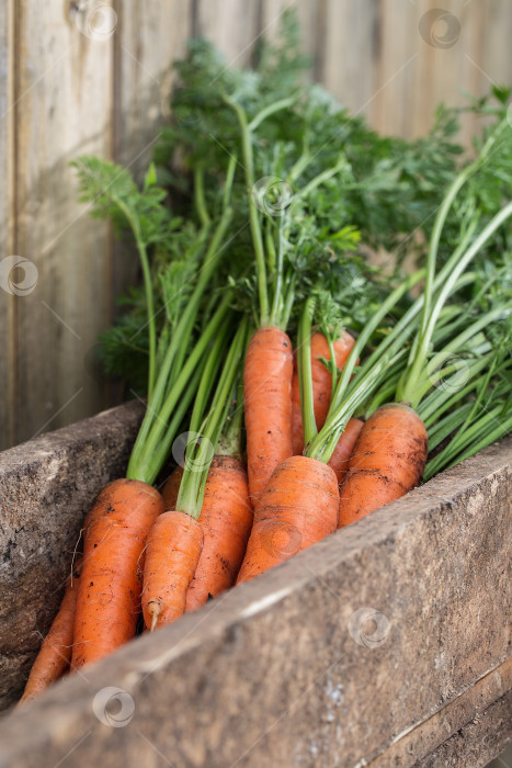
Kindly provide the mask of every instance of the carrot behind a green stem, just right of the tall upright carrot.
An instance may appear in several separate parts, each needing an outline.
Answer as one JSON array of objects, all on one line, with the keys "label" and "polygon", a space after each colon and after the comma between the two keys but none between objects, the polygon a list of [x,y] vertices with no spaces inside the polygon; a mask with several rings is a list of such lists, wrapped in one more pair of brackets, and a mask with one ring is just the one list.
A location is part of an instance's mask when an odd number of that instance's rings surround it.
[{"label": "carrot behind a green stem, just right of the tall upright carrot", "polygon": [[[342,370],[352,347],[354,338],[344,331],[342,336],[333,343],[335,365],[338,370]],[[321,359],[330,360],[331,352],[329,343],[323,334],[317,331],[311,335],[311,379],[312,379],[312,396],[315,407],[315,420],[318,429],[321,429],[326,422],[327,413],[331,402],[332,376],[331,372],[326,368]],[[303,416],[300,411],[300,389],[298,384],[298,371],[295,369],[292,382],[292,434],[293,434],[293,452],[294,455],[299,455],[304,450],[304,429]]]}]

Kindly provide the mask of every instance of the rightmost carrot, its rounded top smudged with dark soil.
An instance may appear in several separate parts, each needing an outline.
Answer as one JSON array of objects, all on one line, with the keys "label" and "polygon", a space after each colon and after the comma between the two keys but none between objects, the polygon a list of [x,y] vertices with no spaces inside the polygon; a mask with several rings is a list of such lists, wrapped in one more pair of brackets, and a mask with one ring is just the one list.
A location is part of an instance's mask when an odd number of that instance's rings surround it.
[{"label": "rightmost carrot, its rounded top smudged with dark soil", "polygon": [[384,405],[364,425],[340,487],[342,528],[400,498],[419,485],[429,451],[423,421],[416,410]]}]

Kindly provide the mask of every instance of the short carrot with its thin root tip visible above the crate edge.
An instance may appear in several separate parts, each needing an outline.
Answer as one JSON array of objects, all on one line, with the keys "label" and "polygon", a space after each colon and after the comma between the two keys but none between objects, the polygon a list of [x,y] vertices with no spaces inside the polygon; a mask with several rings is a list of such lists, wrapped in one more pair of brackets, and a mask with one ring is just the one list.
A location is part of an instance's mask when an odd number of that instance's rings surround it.
[{"label": "short carrot with its thin root tip visible above the crate edge", "polygon": [[143,612],[146,628],[174,621],[185,611],[186,592],[203,549],[203,529],[191,515],[160,515],[148,535]]}]

